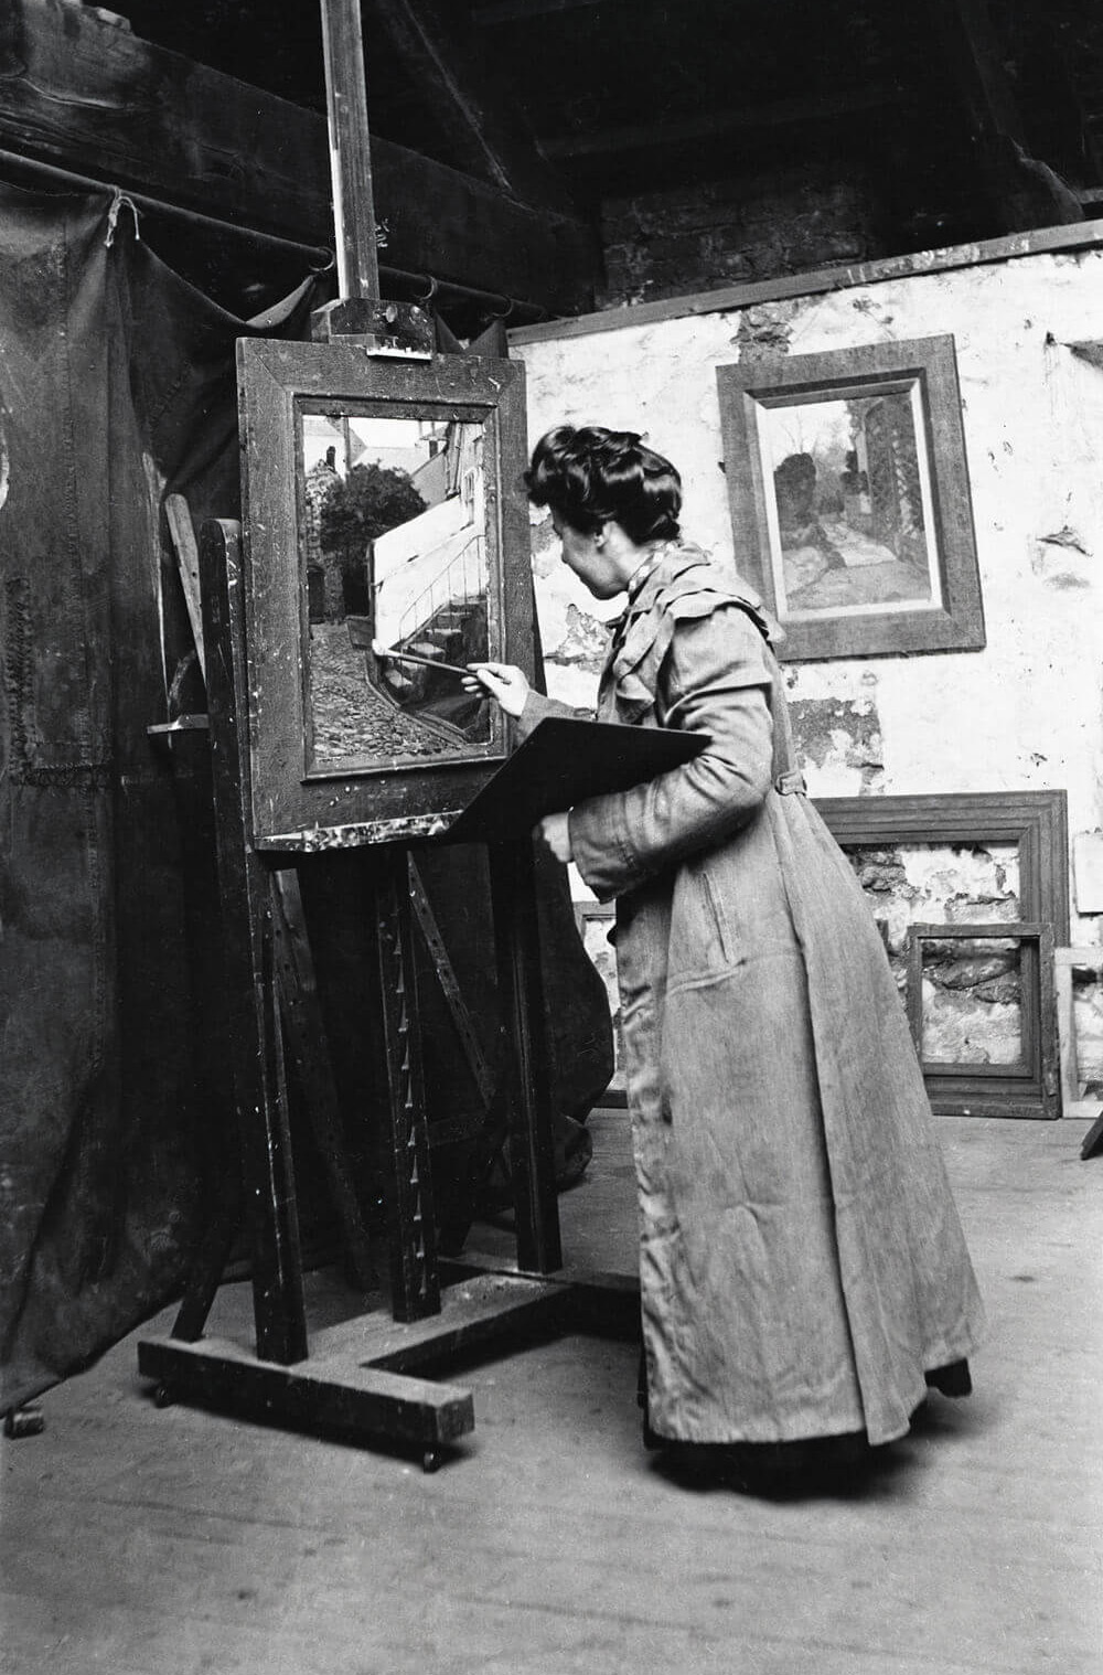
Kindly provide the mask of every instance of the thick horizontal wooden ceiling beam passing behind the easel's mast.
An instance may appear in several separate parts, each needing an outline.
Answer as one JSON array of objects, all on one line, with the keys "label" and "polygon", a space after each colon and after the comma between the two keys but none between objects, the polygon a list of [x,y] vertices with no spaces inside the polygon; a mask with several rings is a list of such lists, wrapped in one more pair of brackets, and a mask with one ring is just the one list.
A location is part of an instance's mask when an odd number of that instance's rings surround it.
[{"label": "thick horizontal wooden ceiling beam passing behind the easel's mast", "polygon": [[[62,0],[0,7],[0,147],[110,186],[333,245],[325,117]],[[382,261],[551,313],[587,305],[593,231],[402,146],[372,144]]]}]

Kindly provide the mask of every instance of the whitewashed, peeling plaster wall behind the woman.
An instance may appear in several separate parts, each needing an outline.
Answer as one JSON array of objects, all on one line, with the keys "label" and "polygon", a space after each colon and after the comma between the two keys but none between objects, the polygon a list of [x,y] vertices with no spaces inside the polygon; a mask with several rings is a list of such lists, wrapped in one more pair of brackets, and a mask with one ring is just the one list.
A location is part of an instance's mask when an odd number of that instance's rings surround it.
[{"label": "whitewashed, peeling plaster wall behind the woman", "polygon": [[[700,308],[700,298],[696,302]],[[608,323],[603,320],[603,325]],[[952,333],[979,556],[982,652],[788,667],[790,700],[865,715],[805,750],[813,796],[1068,792],[1073,836],[1103,824],[1103,250],[917,271],[827,295],[524,340],[529,434],[561,420],[643,430],[685,481],[685,533],[731,553],[718,365]],[[551,690],[593,704],[596,606],[534,519]],[[805,705],[800,705],[805,709]],[[807,710],[820,704],[808,704]],[[800,744],[798,734],[798,744]],[[1098,918],[1075,921],[1095,943]]]}]

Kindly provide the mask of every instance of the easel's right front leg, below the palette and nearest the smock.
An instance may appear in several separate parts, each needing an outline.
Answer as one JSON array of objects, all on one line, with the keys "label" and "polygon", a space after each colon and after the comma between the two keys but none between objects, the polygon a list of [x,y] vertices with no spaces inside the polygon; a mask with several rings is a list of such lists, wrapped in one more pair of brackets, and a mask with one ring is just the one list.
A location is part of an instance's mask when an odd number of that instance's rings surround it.
[{"label": "easel's right front leg, below the palette and nearest the smock", "polygon": [[490,896],[502,1020],[510,1054],[509,1162],[517,1214],[517,1265],[562,1266],[551,1074],[532,844],[490,844]]}]

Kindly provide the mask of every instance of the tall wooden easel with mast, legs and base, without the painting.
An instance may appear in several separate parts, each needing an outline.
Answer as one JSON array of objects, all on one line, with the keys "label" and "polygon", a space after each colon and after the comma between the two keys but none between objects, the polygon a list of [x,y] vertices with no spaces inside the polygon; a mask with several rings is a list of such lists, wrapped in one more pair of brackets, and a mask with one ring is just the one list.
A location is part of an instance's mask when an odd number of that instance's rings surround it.
[{"label": "tall wooden easel with mast, legs and base, without the painting", "polygon": [[[417,310],[378,298],[358,0],[321,0],[321,10],[341,298],[315,315],[313,337],[353,338],[372,352],[373,340],[402,333],[417,338],[422,325]],[[472,1430],[474,1404],[469,1390],[413,1377],[412,1368],[521,1323],[564,1325],[567,1318],[604,1315],[608,1303],[631,1330],[638,1315],[636,1286],[619,1276],[561,1271],[536,883],[527,839],[489,844],[499,1003],[509,1042],[505,1106],[517,1261],[469,1258],[452,1265],[457,1283],[442,1283],[412,958],[418,903],[410,891],[408,851],[390,843],[367,858],[378,982],[377,1017],[365,1020],[375,1030],[388,1095],[380,1159],[387,1281],[378,1306],[308,1335],[280,972],[295,965],[301,938],[290,879],[293,868],[308,866],[310,859],[261,853],[251,843],[239,534],[239,526],[228,521],[204,526],[199,591],[256,1342],[249,1350],[203,1337],[241,1213],[236,1194],[229,1193],[198,1253],[172,1333],[139,1343],[139,1370],[157,1384],[159,1400],[228,1407],[293,1427],[333,1427],[367,1442],[413,1447],[422,1452],[425,1469],[434,1469],[442,1449]],[[310,983],[298,985],[296,993],[303,992],[310,992]],[[286,992],[283,1012],[286,1018]],[[308,1038],[305,1028],[303,1050]],[[291,1042],[295,1050],[293,1033]],[[320,1121],[316,1112],[313,1121]],[[321,1121],[330,1121],[325,1111]],[[340,1181],[336,1186],[335,1203],[341,1211]],[[357,1250],[353,1206],[345,1206],[341,1219],[346,1245]],[[360,1248],[360,1263],[367,1260]]]}]

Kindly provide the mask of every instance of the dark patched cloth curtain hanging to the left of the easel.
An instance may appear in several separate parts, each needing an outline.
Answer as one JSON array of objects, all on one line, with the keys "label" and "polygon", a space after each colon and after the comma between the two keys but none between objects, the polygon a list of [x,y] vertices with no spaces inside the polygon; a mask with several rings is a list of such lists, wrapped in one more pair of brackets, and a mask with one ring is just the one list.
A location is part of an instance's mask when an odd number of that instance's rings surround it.
[{"label": "dark patched cloth curtain hanging to the left of the easel", "polygon": [[209,784],[146,727],[191,643],[162,496],[236,513],[251,328],[109,208],[0,186],[0,1410],[179,1285],[233,1166]]}]

